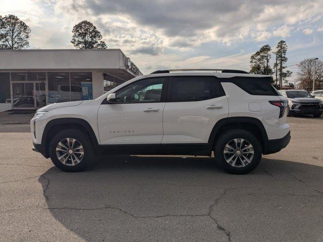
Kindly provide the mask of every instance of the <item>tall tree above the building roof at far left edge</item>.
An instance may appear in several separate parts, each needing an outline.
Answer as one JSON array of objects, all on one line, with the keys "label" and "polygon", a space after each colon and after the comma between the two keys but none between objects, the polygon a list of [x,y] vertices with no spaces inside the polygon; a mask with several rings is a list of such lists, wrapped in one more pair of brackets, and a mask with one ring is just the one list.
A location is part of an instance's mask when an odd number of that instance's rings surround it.
[{"label": "tall tree above the building roof at far left edge", "polygon": [[30,28],[15,15],[0,16],[0,48],[23,49],[29,46]]}]

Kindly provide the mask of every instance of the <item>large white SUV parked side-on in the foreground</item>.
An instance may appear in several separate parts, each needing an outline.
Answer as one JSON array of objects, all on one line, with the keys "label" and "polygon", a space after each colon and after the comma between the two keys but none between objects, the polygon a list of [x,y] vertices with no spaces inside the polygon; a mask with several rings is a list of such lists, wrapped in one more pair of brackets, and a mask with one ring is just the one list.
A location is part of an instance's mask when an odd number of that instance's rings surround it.
[{"label": "large white SUV parked side-on in the foreground", "polygon": [[31,119],[33,150],[64,171],[98,154],[214,156],[230,173],[286,147],[287,100],[271,77],[235,70],[136,77],[95,100],[54,103]]}]

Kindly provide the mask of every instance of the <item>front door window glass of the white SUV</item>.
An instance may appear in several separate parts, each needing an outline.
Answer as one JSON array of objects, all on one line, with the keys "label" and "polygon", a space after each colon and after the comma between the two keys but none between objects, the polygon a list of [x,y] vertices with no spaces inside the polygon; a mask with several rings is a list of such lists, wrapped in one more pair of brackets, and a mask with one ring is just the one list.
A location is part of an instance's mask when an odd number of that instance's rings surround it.
[{"label": "front door window glass of the white SUV", "polygon": [[117,103],[160,102],[165,78],[149,78],[116,92]]}]

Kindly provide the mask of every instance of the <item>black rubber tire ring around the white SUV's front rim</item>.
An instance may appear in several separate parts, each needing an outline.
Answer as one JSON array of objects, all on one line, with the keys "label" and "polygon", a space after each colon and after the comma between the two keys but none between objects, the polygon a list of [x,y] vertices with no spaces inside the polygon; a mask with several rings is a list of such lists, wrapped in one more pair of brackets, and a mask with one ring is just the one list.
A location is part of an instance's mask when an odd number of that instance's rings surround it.
[{"label": "black rubber tire ring around the white SUV's front rim", "polygon": [[[64,165],[56,155],[56,147],[58,143],[64,138],[74,138],[78,140],[84,149],[84,156],[80,163],[74,166]],[[93,157],[93,145],[90,141],[90,137],[79,130],[69,129],[60,131],[55,135],[49,143],[49,156],[52,163],[63,171],[76,172],[84,169],[86,166],[90,165]]]}]

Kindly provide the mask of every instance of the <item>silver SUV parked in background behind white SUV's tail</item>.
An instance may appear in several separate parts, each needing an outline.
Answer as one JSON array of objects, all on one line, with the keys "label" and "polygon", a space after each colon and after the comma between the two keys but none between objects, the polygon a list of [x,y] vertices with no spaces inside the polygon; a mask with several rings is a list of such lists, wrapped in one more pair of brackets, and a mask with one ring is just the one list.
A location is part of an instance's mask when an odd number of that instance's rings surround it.
[{"label": "silver SUV parked in background behind white SUV's tail", "polygon": [[280,90],[280,93],[288,99],[287,116],[310,114],[319,117],[323,111],[322,101],[305,90]]}]

